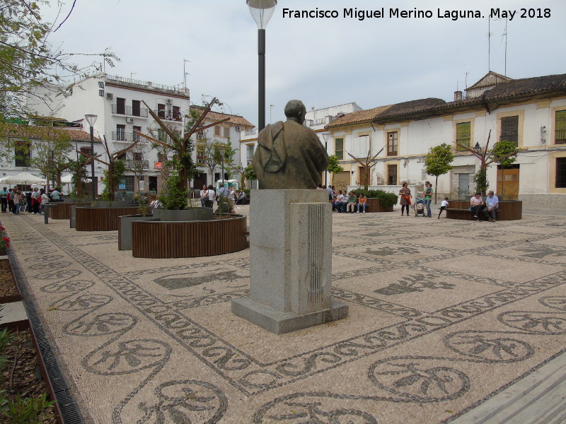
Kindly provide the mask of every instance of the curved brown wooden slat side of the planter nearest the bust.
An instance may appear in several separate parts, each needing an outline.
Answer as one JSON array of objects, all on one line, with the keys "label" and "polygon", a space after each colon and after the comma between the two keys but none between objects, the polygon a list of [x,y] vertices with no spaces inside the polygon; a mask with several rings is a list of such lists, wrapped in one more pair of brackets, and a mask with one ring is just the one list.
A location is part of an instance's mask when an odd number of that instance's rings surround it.
[{"label": "curved brown wooden slat side of the planter nearest the bust", "polygon": [[246,216],[203,221],[132,222],[132,256],[192,258],[238,252],[248,247]]}]

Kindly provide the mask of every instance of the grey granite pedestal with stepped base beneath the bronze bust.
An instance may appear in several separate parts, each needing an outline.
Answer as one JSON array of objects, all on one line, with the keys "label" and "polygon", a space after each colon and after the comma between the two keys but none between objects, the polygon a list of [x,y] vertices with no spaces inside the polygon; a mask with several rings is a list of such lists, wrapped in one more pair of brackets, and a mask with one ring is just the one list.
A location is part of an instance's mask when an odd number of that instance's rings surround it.
[{"label": "grey granite pedestal with stepped base beneath the bronze bust", "polygon": [[333,302],[332,206],[323,190],[255,190],[250,215],[250,297],[238,317],[275,334],[347,317]]}]

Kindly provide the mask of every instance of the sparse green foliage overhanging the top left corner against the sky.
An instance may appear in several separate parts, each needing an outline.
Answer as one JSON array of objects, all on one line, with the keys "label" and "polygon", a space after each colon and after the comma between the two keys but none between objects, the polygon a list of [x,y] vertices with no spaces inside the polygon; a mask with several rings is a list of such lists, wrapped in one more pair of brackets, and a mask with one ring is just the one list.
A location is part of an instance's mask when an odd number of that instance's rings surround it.
[{"label": "sparse green foliage overhanging the top left corner against the sky", "polygon": [[[109,65],[120,61],[106,50],[100,54],[66,53],[54,48],[48,37],[56,26],[43,22],[40,4],[48,1],[5,0],[0,7],[0,119],[23,117],[22,95],[37,96],[34,88],[45,82],[53,84],[54,95],[71,90],[71,78],[86,76],[98,63],[79,68],[71,63],[74,56],[102,57]],[[66,14],[62,14],[65,16]],[[97,62],[100,59],[97,60]],[[67,82],[69,81],[69,82]]]}]

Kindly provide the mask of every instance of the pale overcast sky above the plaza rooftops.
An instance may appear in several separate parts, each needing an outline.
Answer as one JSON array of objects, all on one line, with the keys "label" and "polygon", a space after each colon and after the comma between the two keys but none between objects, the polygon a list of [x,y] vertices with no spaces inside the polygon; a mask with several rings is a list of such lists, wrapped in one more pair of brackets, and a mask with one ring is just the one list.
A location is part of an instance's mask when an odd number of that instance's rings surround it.
[{"label": "pale overcast sky above the plaza rooftops", "polygon": [[[62,7],[69,13],[72,0]],[[54,3],[54,0],[52,0]],[[55,4],[52,4],[55,6]],[[337,11],[337,18],[289,18],[291,11]],[[383,18],[345,18],[344,8],[378,10]],[[431,11],[432,18],[390,17],[390,9]],[[364,108],[420,98],[453,100],[490,69],[505,72],[505,19],[492,8],[516,11],[507,20],[507,76],[566,73],[566,1],[279,0],[267,25],[266,122],[284,119],[293,98],[307,109],[357,102]],[[538,16],[521,18],[521,8]],[[437,18],[438,10],[479,11],[483,18]],[[46,20],[55,20],[44,10]],[[488,21],[490,59],[488,62]],[[168,86],[183,83],[191,102],[202,95],[225,103],[225,112],[258,123],[258,29],[246,0],[76,0],[50,41],[67,52],[120,57],[112,75]],[[466,77],[467,73],[467,77]],[[207,98],[210,100],[210,97]]]}]

